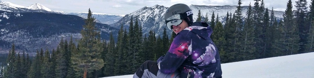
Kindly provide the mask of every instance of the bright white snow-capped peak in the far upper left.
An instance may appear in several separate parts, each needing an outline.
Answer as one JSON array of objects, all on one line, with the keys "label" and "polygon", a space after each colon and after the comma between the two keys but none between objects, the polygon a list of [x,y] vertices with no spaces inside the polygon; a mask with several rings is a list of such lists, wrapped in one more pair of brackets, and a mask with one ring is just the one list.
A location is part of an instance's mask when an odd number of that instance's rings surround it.
[{"label": "bright white snow-capped peak in the far upper left", "polygon": [[39,3],[32,4],[28,7],[20,6],[13,4],[11,2],[0,1],[0,10],[14,13],[23,13],[23,12],[44,12],[44,13],[58,13],[58,14],[68,14],[63,11],[53,11]]}]

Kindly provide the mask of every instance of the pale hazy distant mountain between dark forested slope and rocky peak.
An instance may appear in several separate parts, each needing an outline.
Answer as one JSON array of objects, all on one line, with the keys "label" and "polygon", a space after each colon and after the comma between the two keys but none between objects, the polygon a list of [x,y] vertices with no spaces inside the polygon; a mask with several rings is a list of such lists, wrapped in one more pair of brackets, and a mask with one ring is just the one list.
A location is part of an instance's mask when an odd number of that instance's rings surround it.
[{"label": "pale hazy distant mountain between dark forested slope and rocky peak", "polygon": [[[78,13],[68,13],[68,14],[87,18],[88,12],[78,12]],[[104,13],[93,13],[92,16],[95,17],[96,20],[100,23],[113,24],[113,23],[118,22],[125,15],[108,15]]]}]

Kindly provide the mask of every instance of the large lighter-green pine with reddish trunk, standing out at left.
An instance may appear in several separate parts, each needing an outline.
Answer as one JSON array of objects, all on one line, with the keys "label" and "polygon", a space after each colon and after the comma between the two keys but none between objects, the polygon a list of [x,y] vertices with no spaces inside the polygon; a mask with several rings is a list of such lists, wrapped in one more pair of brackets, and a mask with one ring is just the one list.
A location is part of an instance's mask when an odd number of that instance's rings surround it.
[{"label": "large lighter-green pine with reddish trunk, standing out at left", "polygon": [[83,77],[86,78],[87,71],[99,70],[104,66],[104,61],[100,57],[103,51],[100,41],[100,32],[95,28],[95,18],[88,10],[87,19],[81,30],[82,38],[78,42],[79,51],[71,59],[75,71],[84,71]]}]

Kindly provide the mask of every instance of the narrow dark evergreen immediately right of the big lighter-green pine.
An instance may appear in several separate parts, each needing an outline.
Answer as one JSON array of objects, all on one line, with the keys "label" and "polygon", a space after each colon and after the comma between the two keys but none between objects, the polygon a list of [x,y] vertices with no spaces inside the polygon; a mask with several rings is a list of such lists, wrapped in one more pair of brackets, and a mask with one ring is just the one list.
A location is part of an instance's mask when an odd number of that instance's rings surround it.
[{"label": "narrow dark evergreen immediately right of the big lighter-green pine", "polygon": [[105,70],[104,70],[104,74],[105,76],[114,76],[114,65],[115,65],[115,53],[116,53],[116,45],[115,45],[115,41],[113,39],[113,35],[112,32],[110,33],[110,40],[108,43],[108,47],[107,47],[108,51],[106,53],[106,57],[105,57]]}]

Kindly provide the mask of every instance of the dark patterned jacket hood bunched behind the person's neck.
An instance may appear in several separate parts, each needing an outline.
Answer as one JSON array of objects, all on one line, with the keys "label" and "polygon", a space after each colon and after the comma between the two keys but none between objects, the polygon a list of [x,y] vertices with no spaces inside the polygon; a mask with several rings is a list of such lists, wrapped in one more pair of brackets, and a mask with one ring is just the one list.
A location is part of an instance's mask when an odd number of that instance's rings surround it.
[{"label": "dark patterned jacket hood bunched behind the person's neck", "polygon": [[212,28],[205,22],[194,22],[184,30],[189,30],[205,40],[213,33]]}]

